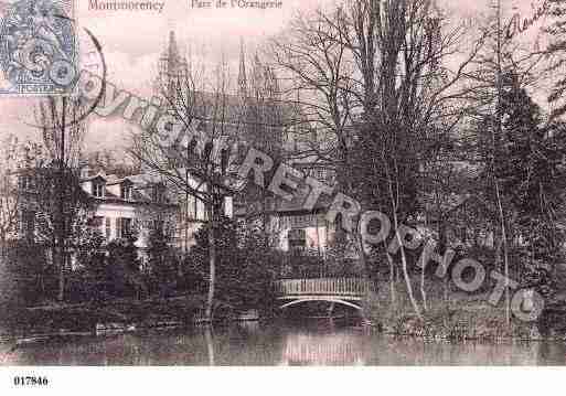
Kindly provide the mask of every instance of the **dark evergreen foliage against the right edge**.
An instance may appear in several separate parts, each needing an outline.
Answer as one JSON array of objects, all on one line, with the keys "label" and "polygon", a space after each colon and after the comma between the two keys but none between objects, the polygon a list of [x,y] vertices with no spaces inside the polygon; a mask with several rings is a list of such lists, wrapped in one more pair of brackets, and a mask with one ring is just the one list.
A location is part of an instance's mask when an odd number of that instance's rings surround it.
[{"label": "dark evergreen foliage against the right edge", "polygon": [[515,212],[522,283],[538,287],[547,283],[546,271],[563,259],[565,126],[544,126],[538,107],[516,83],[505,90],[503,108],[508,117],[502,185]]}]

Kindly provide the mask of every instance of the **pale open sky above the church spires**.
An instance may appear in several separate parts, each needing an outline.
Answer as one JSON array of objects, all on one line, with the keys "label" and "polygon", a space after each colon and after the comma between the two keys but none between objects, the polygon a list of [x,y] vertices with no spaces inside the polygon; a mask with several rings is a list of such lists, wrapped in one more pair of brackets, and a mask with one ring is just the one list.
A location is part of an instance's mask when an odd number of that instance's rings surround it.
[{"label": "pale open sky above the church spires", "polygon": [[[68,1],[68,0],[67,0]],[[151,79],[157,74],[158,58],[163,51],[169,31],[174,30],[179,45],[186,54],[201,57],[204,62],[224,54],[232,68],[237,72],[239,41],[253,51],[267,38],[279,34],[297,12],[308,12],[317,7],[330,7],[335,0],[279,0],[279,9],[253,10],[232,8],[231,0],[225,9],[193,7],[192,0],[151,0],[162,2],[162,12],[128,10],[94,10],[95,1],[76,0],[76,15],[82,28],[94,33],[103,45],[108,64],[108,79],[122,89],[142,97],[151,96]],[[490,0],[438,0],[451,12],[472,17],[487,11]],[[530,1],[502,0],[506,7],[516,6],[530,13]],[[540,0],[535,0],[540,1]],[[7,3],[0,0],[0,13]],[[104,1],[98,1],[103,3]],[[107,1],[108,2],[108,1]],[[110,1],[111,2],[111,1]],[[143,1],[146,2],[146,1]],[[4,7],[2,7],[4,6]],[[84,34],[82,34],[84,39]],[[0,72],[1,73],[1,72]],[[31,121],[30,109],[34,99],[0,96],[0,139],[15,133],[22,139],[34,139],[39,131],[25,126]],[[89,150],[116,148],[125,143],[130,126],[120,120],[96,119],[89,125],[86,143]]]}]

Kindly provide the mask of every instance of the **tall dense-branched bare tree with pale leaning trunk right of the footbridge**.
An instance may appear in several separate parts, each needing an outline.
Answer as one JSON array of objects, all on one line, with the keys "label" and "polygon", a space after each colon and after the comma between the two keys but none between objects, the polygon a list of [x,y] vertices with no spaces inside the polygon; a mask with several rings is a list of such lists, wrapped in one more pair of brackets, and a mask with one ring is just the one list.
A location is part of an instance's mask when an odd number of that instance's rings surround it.
[{"label": "tall dense-branched bare tree with pale leaning trunk right of the footbridge", "polygon": [[[419,214],[419,172],[427,151],[447,140],[462,119],[458,84],[483,38],[457,60],[453,55],[469,30],[431,1],[355,0],[349,7],[344,25],[350,26],[348,44],[360,71],[355,86],[363,109],[359,196],[392,218],[402,274],[420,317],[398,231],[402,224],[415,224]],[[384,254],[393,263],[386,248]],[[389,268],[393,277],[394,266]]]}]

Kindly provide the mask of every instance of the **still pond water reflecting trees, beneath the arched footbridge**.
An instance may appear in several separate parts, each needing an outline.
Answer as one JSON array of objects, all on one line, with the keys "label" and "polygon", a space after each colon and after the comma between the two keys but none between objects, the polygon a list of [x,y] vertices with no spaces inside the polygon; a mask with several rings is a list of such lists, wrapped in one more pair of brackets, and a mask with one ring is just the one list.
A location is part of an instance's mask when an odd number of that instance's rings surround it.
[{"label": "still pond water reflecting trees, beneath the arched footbridge", "polygon": [[203,328],[0,349],[2,365],[565,365],[564,343],[425,343],[331,321]]}]

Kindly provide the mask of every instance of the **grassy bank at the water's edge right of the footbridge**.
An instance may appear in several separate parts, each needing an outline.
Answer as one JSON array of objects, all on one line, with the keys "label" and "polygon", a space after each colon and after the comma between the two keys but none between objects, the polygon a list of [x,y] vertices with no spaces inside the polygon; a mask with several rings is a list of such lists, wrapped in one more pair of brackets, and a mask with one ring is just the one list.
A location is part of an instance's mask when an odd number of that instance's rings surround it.
[{"label": "grassy bank at the water's edge right of the footbridge", "polygon": [[554,318],[548,320],[551,311],[547,310],[534,322],[524,322],[511,315],[508,323],[503,303],[491,306],[488,292],[446,292],[444,285],[432,283],[425,288],[425,302],[418,282],[413,286],[421,318],[415,313],[404,282],[396,283],[393,301],[391,285],[382,283],[377,292],[364,301],[367,322],[386,334],[428,340],[566,341],[566,327],[560,324],[566,321],[566,312],[555,312]]}]

